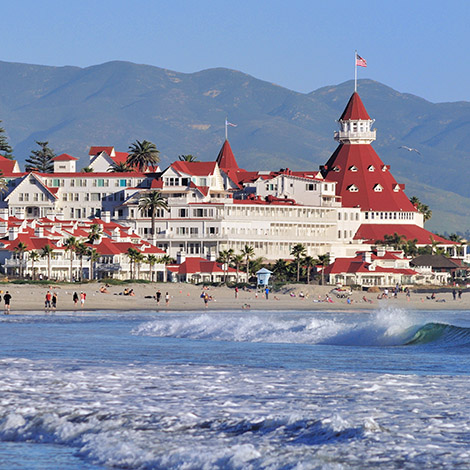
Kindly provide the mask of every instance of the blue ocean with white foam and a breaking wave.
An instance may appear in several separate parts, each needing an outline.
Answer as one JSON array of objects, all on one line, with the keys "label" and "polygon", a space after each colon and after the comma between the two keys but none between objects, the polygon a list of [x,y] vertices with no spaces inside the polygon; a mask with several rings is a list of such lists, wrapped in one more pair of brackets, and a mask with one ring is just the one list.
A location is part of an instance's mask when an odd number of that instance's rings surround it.
[{"label": "blue ocean with white foam and a breaking wave", "polygon": [[0,470],[470,466],[465,311],[0,322]]}]

